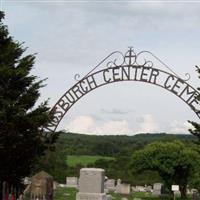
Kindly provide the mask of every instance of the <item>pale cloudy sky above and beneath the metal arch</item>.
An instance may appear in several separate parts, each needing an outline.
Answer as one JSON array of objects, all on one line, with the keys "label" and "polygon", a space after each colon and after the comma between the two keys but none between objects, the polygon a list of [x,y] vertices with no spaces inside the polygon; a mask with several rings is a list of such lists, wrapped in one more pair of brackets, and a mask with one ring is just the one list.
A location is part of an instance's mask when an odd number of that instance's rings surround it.
[{"label": "pale cloudy sky above and beneath the metal arch", "polygon": [[[113,51],[148,50],[189,84],[199,86],[200,1],[1,0],[4,23],[27,54],[32,74],[48,78],[39,102],[50,107]],[[101,66],[105,68],[106,66]],[[160,63],[156,67],[168,71]],[[188,133],[195,113],[172,93],[141,82],[98,88],[79,100],[57,130],[87,134]]]}]

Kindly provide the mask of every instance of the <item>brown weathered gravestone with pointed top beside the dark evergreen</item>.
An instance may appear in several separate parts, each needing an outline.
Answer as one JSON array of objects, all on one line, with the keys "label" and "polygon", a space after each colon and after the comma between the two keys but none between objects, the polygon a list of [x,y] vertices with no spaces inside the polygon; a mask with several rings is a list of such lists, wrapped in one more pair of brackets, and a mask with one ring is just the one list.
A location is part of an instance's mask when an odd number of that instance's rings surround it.
[{"label": "brown weathered gravestone with pointed top beside the dark evergreen", "polygon": [[53,199],[53,177],[44,171],[31,178],[29,191],[30,199]]}]

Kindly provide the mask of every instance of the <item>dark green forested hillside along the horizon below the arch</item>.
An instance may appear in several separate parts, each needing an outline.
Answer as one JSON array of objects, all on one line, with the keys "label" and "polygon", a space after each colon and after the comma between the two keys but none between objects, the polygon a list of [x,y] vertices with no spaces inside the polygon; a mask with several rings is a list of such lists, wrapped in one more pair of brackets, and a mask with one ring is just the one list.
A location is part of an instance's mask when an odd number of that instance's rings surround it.
[{"label": "dark green forested hillside along the horizon below the arch", "polygon": [[100,155],[112,156],[125,154],[131,155],[135,150],[154,141],[181,140],[189,143],[196,138],[189,134],[137,134],[134,136],[126,135],[83,135],[62,132],[60,140],[64,143],[68,155]]}]

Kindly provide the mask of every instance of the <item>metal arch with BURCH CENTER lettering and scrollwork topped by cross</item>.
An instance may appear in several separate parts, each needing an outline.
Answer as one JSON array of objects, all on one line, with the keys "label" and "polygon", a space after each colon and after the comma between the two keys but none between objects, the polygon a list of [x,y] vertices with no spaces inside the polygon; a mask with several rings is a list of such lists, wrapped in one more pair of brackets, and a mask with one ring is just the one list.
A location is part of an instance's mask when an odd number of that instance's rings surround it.
[{"label": "metal arch with BURCH CENTER lettering and scrollwork topped by cross", "polygon": [[[148,53],[164,65],[170,72],[154,68],[152,61],[144,60],[141,62],[141,55]],[[121,57],[121,62],[118,60],[108,62],[107,67],[101,70],[96,70],[102,63],[113,55],[118,54]],[[189,74],[186,74],[189,76]],[[77,80],[80,76],[76,75]],[[46,131],[54,132],[61,122],[67,111],[84,95],[92,90],[104,86],[106,84],[119,81],[139,81],[157,85],[164,88],[181,100],[183,100],[200,118],[200,106],[197,101],[197,96],[200,95],[196,89],[187,83],[187,80],[180,78],[159,58],[149,51],[142,51],[138,54],[130,48],[125,54],[115,51],[101,61],[94,69],[92,69],[82,79],[73,85],[54,105],[51,112],[54,113],[52,121],[45,127]]]}]

